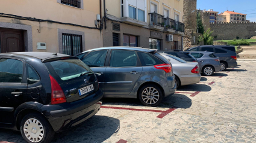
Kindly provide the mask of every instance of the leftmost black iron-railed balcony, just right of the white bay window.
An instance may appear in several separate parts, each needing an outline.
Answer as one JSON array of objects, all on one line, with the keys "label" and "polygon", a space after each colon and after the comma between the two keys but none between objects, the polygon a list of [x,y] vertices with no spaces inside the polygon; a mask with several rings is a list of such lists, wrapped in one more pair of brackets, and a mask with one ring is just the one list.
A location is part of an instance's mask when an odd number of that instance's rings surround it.
[{"label": "leftmost black iron-railed balcony, just right of the white bay window", "polygon": [[149,28],[154,29],[156,31],[163,31],[164,29],[164,16],[158,13],[149,13]]}]

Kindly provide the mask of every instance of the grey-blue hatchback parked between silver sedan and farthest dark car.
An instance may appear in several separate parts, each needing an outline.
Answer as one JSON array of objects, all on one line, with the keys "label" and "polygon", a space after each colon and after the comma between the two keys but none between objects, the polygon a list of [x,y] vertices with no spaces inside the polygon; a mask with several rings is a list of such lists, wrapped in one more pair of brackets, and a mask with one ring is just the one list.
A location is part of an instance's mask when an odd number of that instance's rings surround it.
[{"label": "grey-blue hatchback parked between silver sedan and farthest dark car", "polygon": [[198,59],[200,72],[203,75],[210,76],[214,72],[221,70],[219,57],[216,57],[213,52],[208,51],[191,51],[192,56]]}]

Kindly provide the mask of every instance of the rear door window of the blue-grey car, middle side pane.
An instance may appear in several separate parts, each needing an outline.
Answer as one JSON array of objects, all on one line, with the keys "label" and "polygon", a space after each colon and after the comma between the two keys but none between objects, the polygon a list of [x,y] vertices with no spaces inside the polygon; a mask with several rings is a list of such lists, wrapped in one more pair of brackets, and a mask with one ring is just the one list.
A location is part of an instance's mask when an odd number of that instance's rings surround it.
[{"label": "rear door window of the blue-grey car, middle side pane", "polygon": [[113,50],[111,53],[111,67],[136,66],[137,55],[135,51]]}]

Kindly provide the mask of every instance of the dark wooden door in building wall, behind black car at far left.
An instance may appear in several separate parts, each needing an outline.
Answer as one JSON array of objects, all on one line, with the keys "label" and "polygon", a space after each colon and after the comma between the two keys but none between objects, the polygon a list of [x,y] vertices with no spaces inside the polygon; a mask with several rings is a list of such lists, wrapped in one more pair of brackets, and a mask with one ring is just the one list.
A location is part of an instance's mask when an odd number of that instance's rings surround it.
[{"label": "dark wooden door in building wall, behind black car at far left", "polygon": [[25,51],[23,31],[0,29],[0,53]]}]

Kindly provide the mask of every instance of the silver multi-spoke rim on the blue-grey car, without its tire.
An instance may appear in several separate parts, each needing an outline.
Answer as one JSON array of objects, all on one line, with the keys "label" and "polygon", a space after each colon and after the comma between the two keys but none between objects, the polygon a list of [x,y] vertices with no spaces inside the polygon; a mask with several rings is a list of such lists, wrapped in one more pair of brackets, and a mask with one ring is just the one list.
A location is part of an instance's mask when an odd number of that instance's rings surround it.
[{"label": "silver multi-spoke rim on the blue-grey car, without its tire", "polygon": [[159,98],[160,98],[159,92],[154,87],[146,87],[146,89],[144,89],[142,92],[142,100],[146,104],[149,104],[149,105],[155,104],[157,103]]}]

